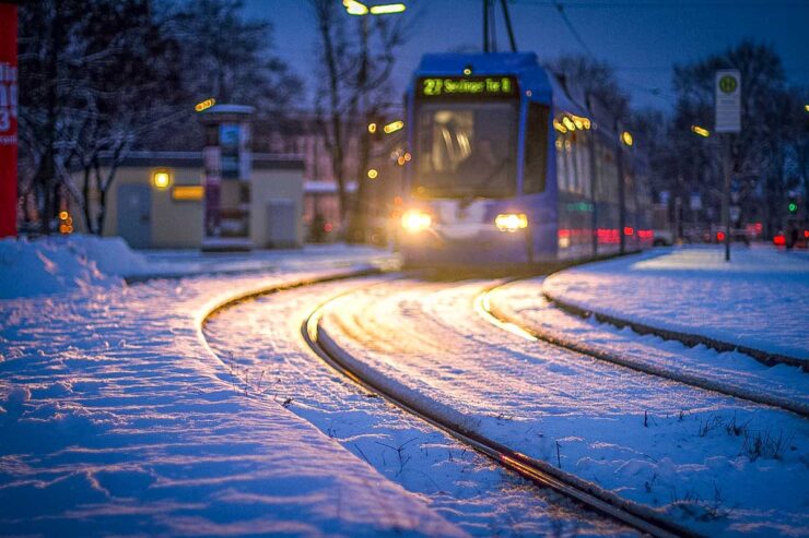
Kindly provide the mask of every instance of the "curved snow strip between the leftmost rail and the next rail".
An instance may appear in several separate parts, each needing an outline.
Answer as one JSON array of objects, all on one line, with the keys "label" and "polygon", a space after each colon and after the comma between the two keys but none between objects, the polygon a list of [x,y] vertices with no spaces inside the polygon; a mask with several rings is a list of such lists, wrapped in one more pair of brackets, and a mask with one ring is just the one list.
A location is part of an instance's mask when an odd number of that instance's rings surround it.
[{"label": "curved snow strip between the leftmost rail and the next rail", "polygon": [[212,316],[208,342],[245,387],[284,405],[473,536],[626,533],[570,509],[439,430],[370,397],[309,350],[301,323],[323,301],[373,279],[328,283],[237,303]]}]

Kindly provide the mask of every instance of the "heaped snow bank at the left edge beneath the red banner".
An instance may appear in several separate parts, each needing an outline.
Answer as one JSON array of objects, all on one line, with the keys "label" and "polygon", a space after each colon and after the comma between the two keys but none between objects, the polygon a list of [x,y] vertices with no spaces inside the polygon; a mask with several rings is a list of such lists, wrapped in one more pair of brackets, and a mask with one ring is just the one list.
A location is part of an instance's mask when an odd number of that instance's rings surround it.
[{"label": "heaped snow bank at the left edge beneath the red banner", "polygon": [[120,238],[0,239],[0,299],[119,285],[120,278],[113,275],[145,266]]}]

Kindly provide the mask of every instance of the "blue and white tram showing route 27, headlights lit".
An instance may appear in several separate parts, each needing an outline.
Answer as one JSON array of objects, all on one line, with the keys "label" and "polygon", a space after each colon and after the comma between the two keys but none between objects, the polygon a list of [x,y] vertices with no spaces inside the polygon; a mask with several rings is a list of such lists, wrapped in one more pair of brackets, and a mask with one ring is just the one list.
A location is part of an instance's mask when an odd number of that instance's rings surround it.
[{"label": "blue and white tram showing route 27, headlights lit", "polygon": [[622,235],[628,251],[650,246],[631,147],[536,55],[426,55],[407,105],[407,264],[591,258],[619,252]]}]

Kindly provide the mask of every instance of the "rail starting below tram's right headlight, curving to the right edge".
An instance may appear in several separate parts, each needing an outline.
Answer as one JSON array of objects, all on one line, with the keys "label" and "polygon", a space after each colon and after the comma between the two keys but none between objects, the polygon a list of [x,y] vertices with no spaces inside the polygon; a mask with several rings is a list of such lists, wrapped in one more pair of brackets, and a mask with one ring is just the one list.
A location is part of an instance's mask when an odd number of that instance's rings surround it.
[{"label": "rail starting below tram's right headlight, curving to the right edge", "polygon": [[[809,417],[809,406],[800,402],[793,402],[765,393],[748,391],[743,387],[730,387],[725,383],[702,378],[700,375],[693,375],[683,372],[672,372],[664,367],[656,367],[654,364],[636,362],[631,359],[623,358],[617,352],[611,352],[607,349],[590,346],[582,342],[565,339],[564,337],[560,337],[556,334],[551,334],[549,332],[519,323],[518,321],[514,320],[513,316],[506,315],[500,309],[493,307],[490,300],[490,296],[496,289],[521,279],[524,278],[511,278],[483,290],[476,298],[474,301],[476,310],[478,311],[479,315],[481,315],[481,318],[483,318],[489,323],[511,333],[514,333],[518,336],[521,336],[523,338],[528,340],[540,340],[546,344],[566,349],[568,351],[587,355],[588,357],[593,357],[594,359],[603,362],[610,362],[612,364],[618,364],[631,370],[635,370],[637,372],[646,373],[648,375],[655,375],[657,378],[666,379],[668,381],[675,381],[677,383],[682,383],[695,388],[719,393],[725,396],[743,399],[757,405],[776,407],[778,409],[799,415],[802,418]],[[564,312],[564,310],[562,311]]]}]

